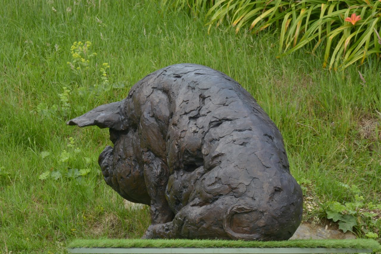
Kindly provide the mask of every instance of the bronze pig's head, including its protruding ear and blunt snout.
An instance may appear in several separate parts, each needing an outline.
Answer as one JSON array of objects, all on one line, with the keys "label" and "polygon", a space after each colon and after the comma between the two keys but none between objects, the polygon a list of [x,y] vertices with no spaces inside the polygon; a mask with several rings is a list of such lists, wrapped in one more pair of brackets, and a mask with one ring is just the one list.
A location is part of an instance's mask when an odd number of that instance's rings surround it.
[{"label": "bronze pig's head, including its protruding ear and blunt snout", "polygon": [[136,203],[149,204],[138,133],[129,130],[124,101],[98,106],[91,111],[68,121],[67,125],[85,127],[96,125],[109,128],[114,148],[106,146],[99,155],[104,180],[123,198]]}]

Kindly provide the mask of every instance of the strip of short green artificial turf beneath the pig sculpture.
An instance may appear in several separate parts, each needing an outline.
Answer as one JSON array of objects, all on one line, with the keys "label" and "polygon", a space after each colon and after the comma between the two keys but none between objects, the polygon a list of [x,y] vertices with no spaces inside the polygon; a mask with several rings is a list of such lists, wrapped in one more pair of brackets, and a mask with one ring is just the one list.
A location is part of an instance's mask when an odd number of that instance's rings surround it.
[{"label": "strip of short green artificial turf beneath the pig sculpture", "polygon": [[142,240],[142,239],[76,239],[68,248],[358,248],[378,249],[380,244],[370,239],[354,240]]}]

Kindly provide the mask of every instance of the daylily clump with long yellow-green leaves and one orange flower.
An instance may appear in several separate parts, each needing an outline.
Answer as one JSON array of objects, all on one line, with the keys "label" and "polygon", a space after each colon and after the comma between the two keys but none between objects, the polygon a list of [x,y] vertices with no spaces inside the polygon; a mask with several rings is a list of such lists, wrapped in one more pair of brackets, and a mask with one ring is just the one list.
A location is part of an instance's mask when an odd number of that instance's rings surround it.
[{"label": "daylily clump with long yellow-green leaves and one orange flower", "polygon": [[313,44],[313,55],[318,48],[325,50],[323,68],[343,70],[357,62],[363,64],[370,55],[380,58],[381,54],[377,36],[381,34],[381,0],[160,1],[168,6],[165,9],[174,6],[191,8],[192,15],[206,13],[209,28],[225,20],[236,32],[248,29],[258,34],[267,28],[278,29],[278,57]]}]

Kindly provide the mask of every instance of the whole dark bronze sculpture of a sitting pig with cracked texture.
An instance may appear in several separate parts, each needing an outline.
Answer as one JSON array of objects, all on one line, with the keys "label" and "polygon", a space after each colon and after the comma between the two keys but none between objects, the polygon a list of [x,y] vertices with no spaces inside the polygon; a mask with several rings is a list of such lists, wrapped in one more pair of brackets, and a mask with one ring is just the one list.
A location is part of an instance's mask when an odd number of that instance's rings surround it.
[{"label": "whole dark bronze sculpture of a sitting pig with cracked texture", "polygon": [[219,71],[168,66],[67,124],[109,128],[98,163],[120,196],[150,205],[143,238],[287,240],[301,222],[279,130]]}]

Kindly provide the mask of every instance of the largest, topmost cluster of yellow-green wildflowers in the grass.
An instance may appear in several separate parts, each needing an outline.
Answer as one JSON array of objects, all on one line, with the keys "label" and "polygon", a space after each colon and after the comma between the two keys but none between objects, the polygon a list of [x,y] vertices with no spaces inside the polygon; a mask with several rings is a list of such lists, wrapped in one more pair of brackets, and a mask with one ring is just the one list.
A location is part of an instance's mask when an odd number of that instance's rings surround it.
[{"label": "largest, topmost cluster of yellow-green wildflowers in the grass", "polygon": [[96,56],[96,53],[89,54],[89,50],[91,47],[91,42],[86,41],[83,42],[74,42],[70,47],[70,53],[72,55],[72,62],[67,62],[67,64],[72,69],[80,70],[81,67],[85,69],[89,69],[89,58]]}]

